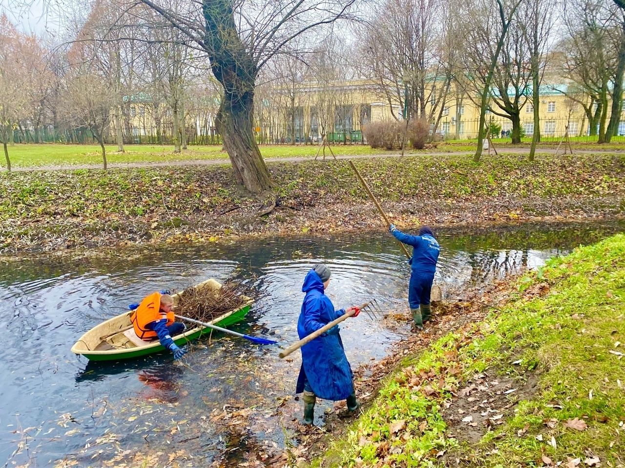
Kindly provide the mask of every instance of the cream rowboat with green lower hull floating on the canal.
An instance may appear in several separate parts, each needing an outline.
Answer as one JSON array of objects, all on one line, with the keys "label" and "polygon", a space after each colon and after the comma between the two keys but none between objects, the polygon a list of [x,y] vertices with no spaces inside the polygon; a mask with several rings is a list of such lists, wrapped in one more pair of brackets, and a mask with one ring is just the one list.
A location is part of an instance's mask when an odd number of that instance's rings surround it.
[{"label": "cream rowboat with green lower hull floating on the canal", "polygon": [[[219,289],[221,288],[221,284],[211,279],[203,281],[199,283],[199,285],[193,286],[193,288],[195,290],[204,288]],[[186,291],[187,290],[181,291],[173,295],[174,306],[178,304],[179,299]],[[226,312],[209,323],[225,328],[242,321],[254,302],[246,296],[244,296],[244,298],[247,301],[241,307]],[[72,353],[82,354],[91,361],[118,361],[120,359],[139,358],[139,356],[145,356],[146,354],[164,351],[165,348],[161,346],[158,339],[143,341],[136,336],[130,321],[131,313],[132,311],[124,312],[123,314],[119,314],[116,317],[94,326],[94,328],[83,334],[83,336],[74,343],[71,349]],[[202,334],[210,334],[211,331],[212,330],[209,328],[196,326],[172,338],[178,346],[183,346],[187,342],[199,338]]]}]

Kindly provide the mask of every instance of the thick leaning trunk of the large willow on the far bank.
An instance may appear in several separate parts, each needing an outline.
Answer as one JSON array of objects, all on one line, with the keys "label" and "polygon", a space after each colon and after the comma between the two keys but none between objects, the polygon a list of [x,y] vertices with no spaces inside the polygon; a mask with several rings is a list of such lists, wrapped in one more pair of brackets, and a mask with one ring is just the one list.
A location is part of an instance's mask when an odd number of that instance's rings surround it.
[{"label": "thick leaning trunk of the large willow on the far bank", "polygon": [[232,162],[234,177],[251,193],[272,187],[269,171],[252,132],[254,84],[258,69],[241,42],[231,0],[204,0],[204,49],[224,88],[217,112],[217,130]]}]

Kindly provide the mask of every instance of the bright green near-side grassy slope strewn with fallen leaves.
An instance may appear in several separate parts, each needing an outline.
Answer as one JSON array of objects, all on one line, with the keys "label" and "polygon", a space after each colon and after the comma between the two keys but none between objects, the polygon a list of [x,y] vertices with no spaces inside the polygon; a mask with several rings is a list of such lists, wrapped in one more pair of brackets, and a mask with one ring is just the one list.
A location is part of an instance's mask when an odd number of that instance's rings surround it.
[{"label": "bright green near-side grassy slope strewn with fallen leaves", "polygon": [[[549,292],[532,293],[537,285],[548,285]],[[517,288],[501,314],[445,336],[387,379],[374,405],[334,444],[324,464],[436,466],[443,464],[436,454],[447,450],[471,466],[540,466],[543,455],[553,464],[590,466],[589,454],[602,466],[623,466],[625,361],[610,351],[625,353],[616,344],[625,341],[625,235],[554,258]],[[477,446],[458,444],[446,436],[441,408],[462,381],[487,368],[518,379],[538,372],[537,392]],[[564,426],[574,418],[587,429]],[[545,424],[551,419],[555,427]],[[397,421],[404,424],[391,434]]]}]

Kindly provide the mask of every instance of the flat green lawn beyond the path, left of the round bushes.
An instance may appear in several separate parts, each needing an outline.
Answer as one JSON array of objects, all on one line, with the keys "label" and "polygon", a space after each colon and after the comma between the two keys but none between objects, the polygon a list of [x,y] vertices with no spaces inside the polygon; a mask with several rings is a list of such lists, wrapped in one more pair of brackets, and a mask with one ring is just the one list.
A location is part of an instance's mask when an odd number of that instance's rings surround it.
[{"label": "flat green lawn beyond the path, left of the round bushes", "polygon": [[[106,145],[106,158],[109,163],[173,162],[183,160],[227,159],[221,145],[194,145],[181,153],[174,153],[171,145],[126,145],[125,153],[118,153],[116,145]],[[13,167],[42,167],[65,165],[99,165],[102,154],[99,145],[63,144],[16,144],[9,146],[9,158]],[[294,145],[261,145],[263,157],[314,157],[319,147]],[[363,145],[336,145],[332,147],[336,155],[379,154]],[[326,156],[331,157],[326,150]],[[4,157],[0,158],[6,165]]]}]

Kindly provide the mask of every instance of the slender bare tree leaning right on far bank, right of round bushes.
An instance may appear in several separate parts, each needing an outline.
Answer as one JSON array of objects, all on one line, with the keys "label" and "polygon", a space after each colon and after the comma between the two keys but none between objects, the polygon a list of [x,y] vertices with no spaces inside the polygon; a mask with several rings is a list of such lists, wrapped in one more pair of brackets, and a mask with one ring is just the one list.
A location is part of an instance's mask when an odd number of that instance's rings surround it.
[{"label": "slender bare tree leaning right on far bank, right of round bushes", "polygon": [[486,136],[486,110],[491,97],[492,78],[499,63],[499,54],[506,41],[506,36],[514,14],[521,0],[479,0],[461,4],[464,24],[465,72],[477,80],[479,94],[479,128],[477,150],[473,157],[479,162],[482,156],[482,142]]}]

